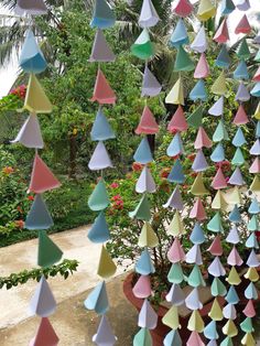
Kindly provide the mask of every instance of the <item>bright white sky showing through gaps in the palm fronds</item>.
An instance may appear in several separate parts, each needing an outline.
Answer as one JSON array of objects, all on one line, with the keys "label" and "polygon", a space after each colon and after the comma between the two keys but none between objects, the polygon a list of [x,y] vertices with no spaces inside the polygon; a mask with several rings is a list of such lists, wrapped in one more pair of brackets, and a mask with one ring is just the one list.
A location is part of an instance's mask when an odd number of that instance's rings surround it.
[{"label": "bright white sky showing through gaps in the palm fronds", "polygon": [[[173,1],[173,7],[174,3],[177,0]],[[191,0],[192,3],[196,3],[199,0]],[[242,2],[243,0],[232,0],[234,3],[239,3]],[[249,22],[251,25],[254,25],[258,28],[260,31],[260,22],[257,21],[256,19],[256,13],[260,12],[260,0],[250,0],[251,9],[247,11],[247,15],[249,19]],[[7,9],[0,8],[0,14],[10,14]],[[236,40],[240,39],[241,35],[235,35],[234,28],[236,28],[237,23],[240,21],[245,12],[235,10],[231,14],[228,15],[228,28],[229,28],[229,34],[230,34],[230,44],[234,44]],[[219,13],[217,13],[217,17],[219,17]],[[17,54],[12,54],[11,61],[6,65],[0,68],[0,98],[6,96],[11,86],[13,85],[18,74],[18,57]]]}]

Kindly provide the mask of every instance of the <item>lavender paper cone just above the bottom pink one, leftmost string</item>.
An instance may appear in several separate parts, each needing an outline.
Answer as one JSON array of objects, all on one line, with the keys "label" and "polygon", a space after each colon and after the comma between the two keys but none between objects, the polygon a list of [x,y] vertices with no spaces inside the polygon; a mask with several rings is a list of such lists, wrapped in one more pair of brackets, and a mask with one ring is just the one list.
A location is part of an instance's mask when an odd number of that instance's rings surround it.
[{"label": "lavender paper cone just above the bottom pink one, leftmost string", "polygon": [[48,317],[56,310],[56,302],[47,284],[46,279],[42,275],[36,290],[30,302],[30,312],[41,317]]}]

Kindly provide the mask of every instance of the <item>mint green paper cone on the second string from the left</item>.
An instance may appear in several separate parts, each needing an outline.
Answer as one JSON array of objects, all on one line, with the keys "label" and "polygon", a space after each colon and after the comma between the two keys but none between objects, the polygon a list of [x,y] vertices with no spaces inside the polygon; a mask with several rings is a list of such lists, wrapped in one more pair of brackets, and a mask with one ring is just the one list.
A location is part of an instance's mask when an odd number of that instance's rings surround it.
[{"label": "mint green paper cone on the second string from the left", "polygon": [[109,205],[109,198],[105,185],[105,181],[100,179],[91,195],[88,198],[88,206],[91,210],[99,212]]}]

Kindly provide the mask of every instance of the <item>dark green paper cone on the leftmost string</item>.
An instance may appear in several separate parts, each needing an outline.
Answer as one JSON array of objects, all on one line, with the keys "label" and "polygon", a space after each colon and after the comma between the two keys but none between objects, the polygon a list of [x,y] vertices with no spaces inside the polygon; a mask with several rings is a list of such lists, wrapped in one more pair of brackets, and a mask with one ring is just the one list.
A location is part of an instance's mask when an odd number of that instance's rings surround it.
[{"label": "dark green paper cone on the leftmost string", "polygon": [[37,266],[50,267],[58,262],[63,251],[48,238],[46,230],[39,231]]}]

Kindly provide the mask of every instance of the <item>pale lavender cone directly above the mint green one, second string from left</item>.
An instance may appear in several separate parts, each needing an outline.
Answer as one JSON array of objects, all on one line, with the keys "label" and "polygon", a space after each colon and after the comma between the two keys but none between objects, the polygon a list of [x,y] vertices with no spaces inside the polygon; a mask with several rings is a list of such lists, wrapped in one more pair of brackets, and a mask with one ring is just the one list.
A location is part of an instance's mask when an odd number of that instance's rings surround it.
[{"label": "pale lavender cone directly above the mint green one, second string from left", "polygon": [[94,153],[88,162],[90,171],[99,171],[108,167],[113,167],[107,149],[102,141],[99,141],[94,150]]}]

